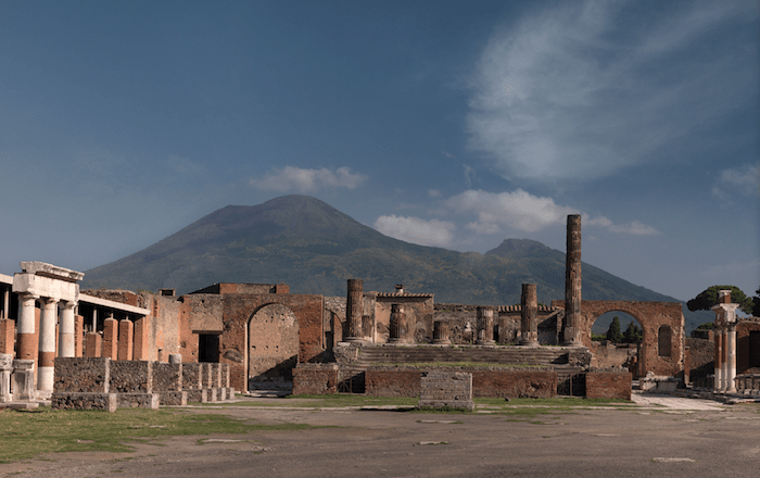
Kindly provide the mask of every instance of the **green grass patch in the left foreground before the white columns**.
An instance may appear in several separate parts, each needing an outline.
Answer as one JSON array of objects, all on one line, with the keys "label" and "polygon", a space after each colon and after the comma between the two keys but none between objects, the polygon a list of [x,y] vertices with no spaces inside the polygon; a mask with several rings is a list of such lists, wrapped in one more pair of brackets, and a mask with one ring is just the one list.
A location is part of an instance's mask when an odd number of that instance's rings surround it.
[{"label": "green grass patch in the left foreground before the white columns", "polygon": [[295,430],[308,425],[257,425],[223,415],[188,414],[176,410],[0,412],[0,463],[28,460],[42,453],[72,451],[130,452],[129,443],[162,444],[178,435],[248,433]]}]

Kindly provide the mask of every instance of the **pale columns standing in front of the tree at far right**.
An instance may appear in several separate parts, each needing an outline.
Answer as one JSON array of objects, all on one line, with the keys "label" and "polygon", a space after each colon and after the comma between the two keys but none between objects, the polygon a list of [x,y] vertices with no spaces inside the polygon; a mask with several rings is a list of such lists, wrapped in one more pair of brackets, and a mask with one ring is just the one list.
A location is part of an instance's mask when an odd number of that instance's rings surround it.
[{"label": "pale columns standing in front of the tree at far right", "polygon": [[731,303],[731,290],[718,292],[719,303],[712,307],[715,313],[715,391],[736,392],[736,309],[738,304]]}]

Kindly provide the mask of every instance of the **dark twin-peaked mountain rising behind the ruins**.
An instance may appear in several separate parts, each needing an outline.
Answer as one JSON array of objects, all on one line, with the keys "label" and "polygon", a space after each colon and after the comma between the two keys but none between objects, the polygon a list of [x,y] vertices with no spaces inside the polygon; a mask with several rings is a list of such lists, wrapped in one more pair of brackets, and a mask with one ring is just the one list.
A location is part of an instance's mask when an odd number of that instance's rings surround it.
[{"label": "dark twin-peaked mountain rising behind the ruins", "polygon": [[[539,300],[549,303],[565,298],[565,253],[528,239],[507,239],[485,254],[411,244],[315,198],[286,196],[215,211],[142,251],[86,271],[81,288],[187,293],[216,282],[284,282],[293,293],[344,295],[352,277],[363,278],[366,291],[404,284],[434,293],[436,302],[469,304],[519,303],[521,285],[535,282]],[[677,302],[585,263],[583,298]]]}]

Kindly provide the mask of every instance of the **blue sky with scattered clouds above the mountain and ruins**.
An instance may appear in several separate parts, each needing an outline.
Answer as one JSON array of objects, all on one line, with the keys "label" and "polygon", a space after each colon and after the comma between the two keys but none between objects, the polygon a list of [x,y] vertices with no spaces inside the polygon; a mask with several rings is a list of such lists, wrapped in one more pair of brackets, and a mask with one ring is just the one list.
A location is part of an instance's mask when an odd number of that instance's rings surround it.
[{"label": "blue sky with scattered clouds above the mountain and ruins", "polygon": [[[0,3],[0,273],[228,204],[565,250],[687,300],[760,285],[755,1]],[[434,291],[432,291],[434,292]]]}]

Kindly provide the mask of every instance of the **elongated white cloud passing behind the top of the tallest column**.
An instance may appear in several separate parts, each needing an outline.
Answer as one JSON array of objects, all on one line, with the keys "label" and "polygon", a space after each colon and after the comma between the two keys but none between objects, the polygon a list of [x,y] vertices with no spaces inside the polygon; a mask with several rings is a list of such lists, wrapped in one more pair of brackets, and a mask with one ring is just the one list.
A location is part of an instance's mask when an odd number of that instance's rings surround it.
[{"label": "elongated white cloud passing behind the top of the tallest column", "polygon": [[[510,227],[527,232],[535,232],[555,224],[566,224],[568,214],[582,214],[571,206],[558,205],[552,198],[533,196],[522,189],[512,192],[486,192],[468,190],[449,198],[444,205],[459,214],[477,217],[467,227],[478,234],[501,232]],[[583,214],[582,222],[587,226],[599,226],[610,232],[648,236],[660,234],[651,226],[634,221],[629,224],[615,224],[604,216],[595,218]]]}]

